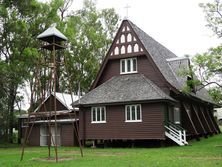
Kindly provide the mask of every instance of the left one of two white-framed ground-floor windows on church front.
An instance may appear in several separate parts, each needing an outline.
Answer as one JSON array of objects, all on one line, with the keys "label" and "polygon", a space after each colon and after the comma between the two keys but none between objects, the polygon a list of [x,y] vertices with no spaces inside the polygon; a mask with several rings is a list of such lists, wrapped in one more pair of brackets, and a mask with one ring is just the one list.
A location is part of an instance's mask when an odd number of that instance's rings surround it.
[{"label": "left one of two white-framed ground-floor windows on church front", "polygon": [[91,108],[91,123],[106,123],[105,107],[92,107]]}]

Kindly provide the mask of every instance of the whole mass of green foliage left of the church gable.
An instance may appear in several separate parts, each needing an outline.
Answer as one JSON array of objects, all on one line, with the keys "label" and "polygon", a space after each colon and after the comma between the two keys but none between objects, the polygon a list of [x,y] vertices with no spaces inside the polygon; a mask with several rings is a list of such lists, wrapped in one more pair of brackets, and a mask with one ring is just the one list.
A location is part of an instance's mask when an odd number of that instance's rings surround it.
[{"label": "whole mass of green foliage left of the church gable", "polygon": [[41,45],[36,37],[52,23],[56,22],[69,39],[67,50],[57,55],[60,63],[64,57],[68,63],[67,70],[57,66],[62,90],[68,91],[71,78],[73,92],[78,92],[79,84],[86,92],[95,79],[117,29],[118,16],[113,9],[97,10],[91,0],[85,0],[83,9],[74,12],[69,10],[72,2],[0,0],[0,120],[4,120],[0,121],[0,136],[8,142],[12,142],[14,108],[22,99],[19,88],[30,86],[30,111],[48,91],[50,71],[46,63],[50,53],[38,49]]}]

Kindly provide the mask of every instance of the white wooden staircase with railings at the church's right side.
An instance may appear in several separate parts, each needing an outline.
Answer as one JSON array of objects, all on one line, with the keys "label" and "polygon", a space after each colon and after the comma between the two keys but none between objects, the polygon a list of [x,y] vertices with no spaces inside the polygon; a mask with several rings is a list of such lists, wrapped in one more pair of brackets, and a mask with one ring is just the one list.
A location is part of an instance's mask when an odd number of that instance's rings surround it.
[{"label": "white wooden staircase with railings at the church's right side", "polygon": [[165,125],[165,135],[180,146],[187,145],[186,130],[179,125],[167,122]]}]

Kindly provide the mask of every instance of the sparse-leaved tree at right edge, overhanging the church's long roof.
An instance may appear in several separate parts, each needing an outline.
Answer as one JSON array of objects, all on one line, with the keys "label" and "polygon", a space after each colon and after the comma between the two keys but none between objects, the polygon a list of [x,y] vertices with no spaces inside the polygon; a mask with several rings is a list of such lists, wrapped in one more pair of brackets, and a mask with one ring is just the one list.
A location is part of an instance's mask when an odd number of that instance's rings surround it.
[{"label": "sparse-leaved tree at right edge, overhanging the church's long roof", "polygon": [[[213,3],[200,4],[205,13],[207,27],[218,38],[222,37],[222,3],[215,0]],[[194,71],[200,79],[201,88],[207,87],[213,99],[222,102],[222,46],[210,48],[207,52],[196,54],[193,58]]]}]

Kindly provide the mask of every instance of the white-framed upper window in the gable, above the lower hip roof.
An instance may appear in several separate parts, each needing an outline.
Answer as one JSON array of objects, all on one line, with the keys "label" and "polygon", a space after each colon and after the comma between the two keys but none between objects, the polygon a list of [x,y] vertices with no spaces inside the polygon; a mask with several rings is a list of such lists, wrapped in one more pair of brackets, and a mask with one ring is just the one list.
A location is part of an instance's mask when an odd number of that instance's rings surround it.
[{"label": "white-framed upper window in the gable, above the lower hip roof", "polygon": [[137,72],[137,59],[128,58],[120,60],[120,74],[136,73]]}]

